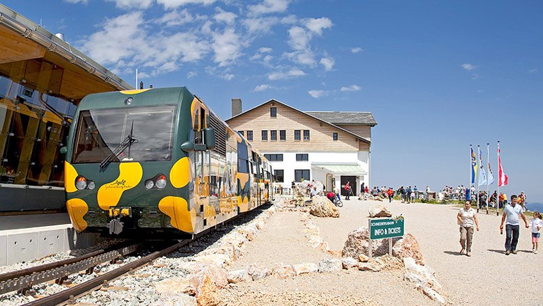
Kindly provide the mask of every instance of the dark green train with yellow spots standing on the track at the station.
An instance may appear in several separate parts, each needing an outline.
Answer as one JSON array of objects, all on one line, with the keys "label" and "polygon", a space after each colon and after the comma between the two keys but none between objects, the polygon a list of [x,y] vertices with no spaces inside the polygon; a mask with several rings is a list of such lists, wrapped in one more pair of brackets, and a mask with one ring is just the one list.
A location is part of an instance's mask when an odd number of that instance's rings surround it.
[{"label": "dark green train with yellow spots standing on the track at the station", "polygon": [[79,232],[188,238],[272,200],[269,161],[184,87],[88,95],[61,152]]}]

